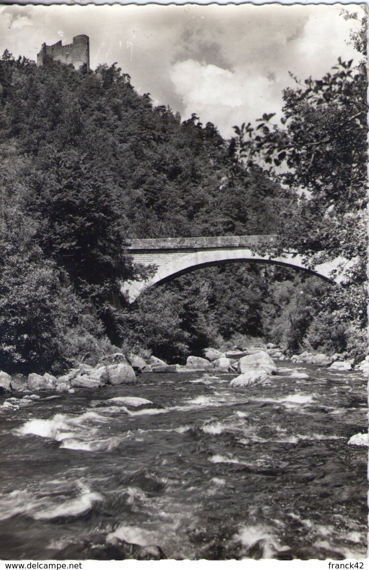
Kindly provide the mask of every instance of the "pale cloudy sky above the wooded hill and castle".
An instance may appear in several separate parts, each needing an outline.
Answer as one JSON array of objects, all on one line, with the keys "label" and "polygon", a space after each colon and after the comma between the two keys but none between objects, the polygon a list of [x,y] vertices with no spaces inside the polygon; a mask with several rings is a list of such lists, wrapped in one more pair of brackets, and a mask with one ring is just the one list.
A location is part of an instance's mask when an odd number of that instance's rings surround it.
[{"label": "pale cloudy sky above the wooded hill and castle", "polygon": [[91,67],[117,62],[140,93],[187,119],[196,113],[220,132],[280,113],[281,91],[320,78],[342,59],[358,60],[346,40],[358,5],[6,6],[0,53],[36,59],[42,42],[90,38]]}]

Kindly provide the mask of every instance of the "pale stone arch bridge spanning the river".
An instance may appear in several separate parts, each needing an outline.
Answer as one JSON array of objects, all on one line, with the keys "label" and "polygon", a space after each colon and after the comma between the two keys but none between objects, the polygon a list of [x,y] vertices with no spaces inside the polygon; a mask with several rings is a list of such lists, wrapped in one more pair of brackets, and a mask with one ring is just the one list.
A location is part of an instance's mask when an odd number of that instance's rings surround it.
[{"label": "pale stone arch bridge spanning the river", "polygon": [[272,257],[255,253],[255,246],[272,244],[275,235],[238,235],[199,238],[132,239],[128,249],[135,263],[157,266],[148,281],[122,284],[122,292],[132,303],[147,287],[165,283],[195,269],[229,262],[274,263],[310,272],[333,282],[330,272],[338,262],[324,263],[311,270],[299,255]]}]

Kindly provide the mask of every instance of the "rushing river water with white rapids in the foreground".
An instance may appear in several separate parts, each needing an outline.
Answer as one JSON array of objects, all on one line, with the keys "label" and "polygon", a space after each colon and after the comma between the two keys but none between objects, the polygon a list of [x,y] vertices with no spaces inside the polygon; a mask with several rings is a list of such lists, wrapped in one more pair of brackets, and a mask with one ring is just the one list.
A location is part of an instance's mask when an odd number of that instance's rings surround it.
[{"label": "rushing river water with white rapids in the foreground", "polygon": [[0,557],[365,557],[363,373],[277,365],[1,396]]}]

